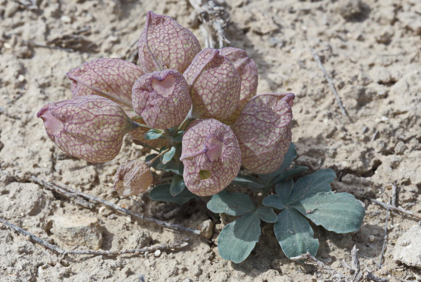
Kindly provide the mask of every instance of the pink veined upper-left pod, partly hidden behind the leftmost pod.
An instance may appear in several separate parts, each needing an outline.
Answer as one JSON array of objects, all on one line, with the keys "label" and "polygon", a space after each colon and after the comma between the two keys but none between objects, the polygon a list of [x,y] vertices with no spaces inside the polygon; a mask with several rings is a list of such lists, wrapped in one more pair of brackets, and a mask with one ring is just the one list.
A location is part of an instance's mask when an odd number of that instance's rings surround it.
[{"label": "pink veined upper-left pod, partly hidden behind the leftmost pod", "polygon": [[[136,64],[117,58],[93,59],[67,73],[67,77],[72,80],[73,98],[85,95],[108,98],[120,105],[133,121],[145,124],[134,112],[131,97],[133,84],[142,75],[142,70]],[[143,134],[148,130],[139,127],[129,132],[129,135],[154,147],[165,144],[163,139],[144,139]]]}]

